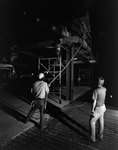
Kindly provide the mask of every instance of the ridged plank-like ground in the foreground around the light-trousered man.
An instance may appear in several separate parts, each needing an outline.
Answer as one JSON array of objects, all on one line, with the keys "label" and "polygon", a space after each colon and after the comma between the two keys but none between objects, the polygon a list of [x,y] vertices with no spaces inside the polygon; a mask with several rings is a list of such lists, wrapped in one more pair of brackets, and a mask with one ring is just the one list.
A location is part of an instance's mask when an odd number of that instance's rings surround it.
[{"label": "ridged plank-like ground in the foreground around the light-trousered man", "polygon": [[[52,109],[53,111],[53,109]],[[89,139],[89,118],[91,104],[70,105],[64,111],[54,111],[53,119],[44,130],[30,128],[1,150],[118,150],[118,111],[105,112],[105,130],[103,140],[96,136],[96,142]]]}]

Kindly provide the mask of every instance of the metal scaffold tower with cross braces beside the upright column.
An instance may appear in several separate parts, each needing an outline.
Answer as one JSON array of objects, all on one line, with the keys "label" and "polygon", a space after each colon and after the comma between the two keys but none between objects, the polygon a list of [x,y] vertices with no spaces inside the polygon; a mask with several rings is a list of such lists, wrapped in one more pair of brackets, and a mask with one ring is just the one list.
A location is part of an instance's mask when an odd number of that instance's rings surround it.
[{"label": "metal scaffold tower with cross braces beside the upright column", "polygon": [[38,61],[38,70],[40,72],[48,73],[48,78],[45,78],[49,83],[52,81],[57,75],[59,75],[56,80],[52,83],[50,87],[50,93],[52,95],[56,95],[59,97],[59,103],[61,103],[62,97],[62,57],[61,55],[53,58],[39,58]]}]

